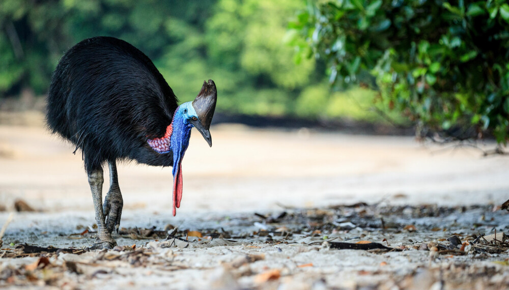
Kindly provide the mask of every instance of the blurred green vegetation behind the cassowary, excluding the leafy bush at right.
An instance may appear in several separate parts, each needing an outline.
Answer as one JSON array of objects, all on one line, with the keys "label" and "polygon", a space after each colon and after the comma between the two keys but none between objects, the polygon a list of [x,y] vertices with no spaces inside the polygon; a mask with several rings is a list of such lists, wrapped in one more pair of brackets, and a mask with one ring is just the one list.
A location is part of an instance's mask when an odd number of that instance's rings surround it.
[{"label": "blurred green vegetation behind the cassowary, excluding the leafy bush at right", "polygon": [[384,122],[375,93],[334,92],[324,63],[296,54],[289,22],[300,0],[2,0],[0,98],[47,92],[60,57],[93,36],[114,36],[147,54],[180,101],[203,80],[232,114]]}]

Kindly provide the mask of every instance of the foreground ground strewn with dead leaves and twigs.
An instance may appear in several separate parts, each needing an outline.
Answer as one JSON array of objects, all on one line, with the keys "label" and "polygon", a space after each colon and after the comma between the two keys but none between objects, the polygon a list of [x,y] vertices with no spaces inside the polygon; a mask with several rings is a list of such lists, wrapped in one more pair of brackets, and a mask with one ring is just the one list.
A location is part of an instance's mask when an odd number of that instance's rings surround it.
[{"label": "foreground ground strewn with dead leaves and twigs", "polygon": [[[121,228],[121,246],[95,251],[87,245],[97,227],[78,226],[60,238],[81,246],[20,241],[2,248],[0,286],[88,288],[118,277],[126,287],[138,287],[148,283],[135,278],[143,271],[156,277],[148,286],[171,282],[185,288],[507,287],[509,221],[506,212],[492,209],[287,207],[196,218],[194,224],[203,227]],[[16,233],[7,230],[4,240],[16,240]],[[179,272],[195,279],[179,279]]]}]

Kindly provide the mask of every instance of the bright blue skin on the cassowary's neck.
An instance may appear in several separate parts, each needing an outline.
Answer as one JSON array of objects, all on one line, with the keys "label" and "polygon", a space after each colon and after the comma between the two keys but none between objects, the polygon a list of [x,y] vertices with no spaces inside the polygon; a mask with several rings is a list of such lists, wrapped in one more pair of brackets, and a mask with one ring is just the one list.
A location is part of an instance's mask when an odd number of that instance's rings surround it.
[{"label": "bright blue skin on the cassowary's neck", "polygon": [[194,127],[192,124],[188,122],[186,118],[184,118],[184,114],[182,114],[183,106],[179,106],[175,111],[173,116],[173,133],[170,138],[170,147],[173,151],[173,170],[172,173],[175,176],[175,173],[178,170],[180,162],[182,162],[182,158],[184,157],[184,153],[187,150],[187,146],[189,146],[189,137],[191,136],[191,129]]}]

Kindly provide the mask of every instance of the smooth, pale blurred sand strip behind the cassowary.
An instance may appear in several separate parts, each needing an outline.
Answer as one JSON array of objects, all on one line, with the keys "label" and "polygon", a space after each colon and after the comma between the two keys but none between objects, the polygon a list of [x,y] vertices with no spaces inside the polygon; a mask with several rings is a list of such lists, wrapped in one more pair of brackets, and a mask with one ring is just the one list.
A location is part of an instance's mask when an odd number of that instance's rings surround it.
[{"label": "smooth, pale blurred sand strip behind the cassowary", "polygon": [[[183,161],[178,213],[248,211],[380,200],[500,203],[509,197],[509,158],[473,149],[424,147],[411,137],[212,128],[194,132]],[[493,144],[491,144],[493,145]],[[0,125],[0,201],[23,198],[46,211],[92,209],[79,153],[42,127]],[[171,167],[119,166],[129,208],[171,212]],[[107,185],[105,184],[105,187]]]}]

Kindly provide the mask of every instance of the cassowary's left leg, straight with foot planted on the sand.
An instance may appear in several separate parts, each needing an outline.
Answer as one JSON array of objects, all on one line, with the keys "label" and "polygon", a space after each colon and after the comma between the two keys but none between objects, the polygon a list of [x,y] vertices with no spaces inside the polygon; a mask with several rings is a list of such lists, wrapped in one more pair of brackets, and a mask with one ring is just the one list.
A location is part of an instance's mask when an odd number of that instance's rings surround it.
[{"label": "cassowary's left leg, straight with foot planted on the sand", "polygon": [[94,209],[97,222],[97,239],[92,249],[111,249],[117,245],[117,242],[111,238],[111,233],[106,229],[104,214],[102,212],[102,168],[94,169],[89,172],[89,185],[94,199]]}]

